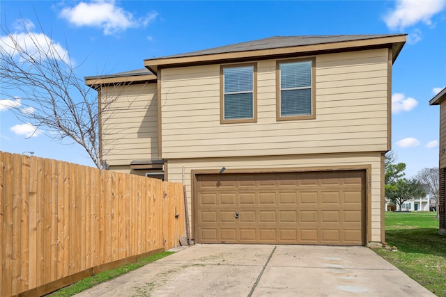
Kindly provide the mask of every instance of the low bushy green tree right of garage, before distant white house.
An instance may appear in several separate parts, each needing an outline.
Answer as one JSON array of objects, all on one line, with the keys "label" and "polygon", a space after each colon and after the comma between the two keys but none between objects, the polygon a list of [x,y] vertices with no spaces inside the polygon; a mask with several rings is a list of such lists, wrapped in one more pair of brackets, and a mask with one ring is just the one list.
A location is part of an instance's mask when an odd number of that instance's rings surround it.
[{"label": "low bushy green tree right of garage, before distant white house", "polygon": [[392,183],[392,187],[386,188],[386,197],[398,205],[401,210],[401,204],[406,201],[412,201],[426,195],[424,186],[417,179],[400,178]]}]

